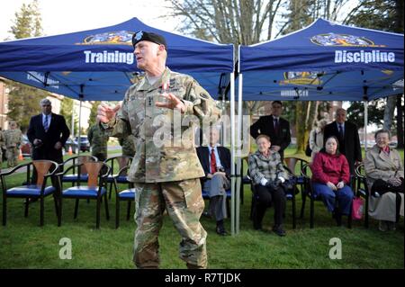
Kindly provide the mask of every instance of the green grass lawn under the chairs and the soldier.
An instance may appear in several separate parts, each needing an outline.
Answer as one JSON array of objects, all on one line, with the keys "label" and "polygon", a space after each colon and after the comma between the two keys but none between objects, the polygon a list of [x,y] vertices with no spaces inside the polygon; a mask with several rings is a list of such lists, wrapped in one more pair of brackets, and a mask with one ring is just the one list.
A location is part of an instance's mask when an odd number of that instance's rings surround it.
[{"label": "green grass lawn under the chairs and the soldier", "polygon": [[[287,154],[291,154],[289,150]],[[403,155],[403,151],[402,151]],[[14,175],[10,186],[21,184],[24,175]],[[122,186],[123,187],[123,186]],[[273,209],[266,212],[264,228],[256,231],[249,218],[251,192],[245,186],[245,202],[241,206],[240,233],[220,237],[215,233],[215,222],[202,218],[208,232],[207,251],[209,268],[403,268],[404,221],[396,231],[383,233],[377,221],[370,219],[365,229],[363,220],[353,221],[347,229],[335,226],[322,202],[315,205],[315,228],[310,229],[310,208],[307,204],[304,220],[297,220],[292,228],[291,202],[287,202],[285,229],[287,236],[272,233]],[[0,199],[0,202],[2,199]],[[132,245],[135,223],[126,220],[126,203],[121,204],[121,227],[115,229],[115,198],[109,201],[111,219],[101,212],[101,229],[95,227],[95,202],[80,202],[78,217],[73,219],[73,200],[65,200],[62,226],[57,227],[53,199],[45,202],[45,225],[39,227],[39,202],[30,204],[28,218],[23,216],[23,200],[10,199],[7,207],[7,226],[0,227],[0,268],[133,268]],[[297,197],[297,211],[301,209],[301,195]],[[133,205],[132,205],[133,213]],[[226,220],[226,227],[229,228]],[[71,260],[59,259],[59,240],[70,238]],[[329,259],[330,238],[340,238],[342,259]],[[160,232],[162,268],[184,268],[178,257],[180,236],[166,215]]]}]

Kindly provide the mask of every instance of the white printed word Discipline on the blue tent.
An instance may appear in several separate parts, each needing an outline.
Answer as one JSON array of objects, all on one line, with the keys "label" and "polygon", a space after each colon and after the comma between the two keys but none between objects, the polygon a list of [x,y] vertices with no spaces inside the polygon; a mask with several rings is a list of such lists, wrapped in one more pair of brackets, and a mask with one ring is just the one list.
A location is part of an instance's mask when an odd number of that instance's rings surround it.
[{"label": "white printed word Discipline on the blue tent", "polygon": [[358,52],[347,52],[347,50],[335,51],[335,63],[387,63],[395,62],[395,53],[380,52],[378,49],[365,52],[363,49]]}]

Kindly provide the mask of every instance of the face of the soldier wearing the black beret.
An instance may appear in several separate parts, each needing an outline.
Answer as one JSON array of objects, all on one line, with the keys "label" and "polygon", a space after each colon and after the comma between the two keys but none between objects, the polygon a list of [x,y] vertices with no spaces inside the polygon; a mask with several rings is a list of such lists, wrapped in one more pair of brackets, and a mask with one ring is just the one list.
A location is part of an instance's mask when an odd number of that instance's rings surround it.
[{"label": "face of the soldier wearing the black beret", "polygon": [[157,63],[158,50],[159,45],[154,42],[148,40],[139,41],[133,51],[137,59],[137,67],[141,70],[148,70],[148,68],[153,67],[154,63]]}]

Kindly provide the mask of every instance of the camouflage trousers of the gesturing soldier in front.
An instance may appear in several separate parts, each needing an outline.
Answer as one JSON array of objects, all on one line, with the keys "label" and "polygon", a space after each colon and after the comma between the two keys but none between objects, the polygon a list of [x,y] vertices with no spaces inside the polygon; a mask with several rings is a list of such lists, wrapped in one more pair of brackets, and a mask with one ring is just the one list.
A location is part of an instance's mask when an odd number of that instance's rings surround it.
[{"label": "camouflage trousers of the gesturing soldier in front", "polygon": [[158,234],[162,227],[163,212],[168,215],[180,233],[180,258],[189,268],[206,268],[207,232],[200,217],[204,209],[200,179],[159,184],[135,184],[135,231],[133,261],[138,268],[158,268]]}]

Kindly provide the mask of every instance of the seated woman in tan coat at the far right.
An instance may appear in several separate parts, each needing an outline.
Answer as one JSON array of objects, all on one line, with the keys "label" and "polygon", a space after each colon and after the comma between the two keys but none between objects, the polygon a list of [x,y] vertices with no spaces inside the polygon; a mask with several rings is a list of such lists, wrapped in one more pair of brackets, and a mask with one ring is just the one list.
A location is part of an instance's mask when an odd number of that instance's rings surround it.
[{"label": "seated woman in tan coat at the far right", "polygon": [[365,175],[372,194],[368,213],[386,231],[395,229],[395,222],[403,216],[403,164],[398,151],[389,146],[389,130],[378,130],[374,138],[376,144],[365,154]]}]

